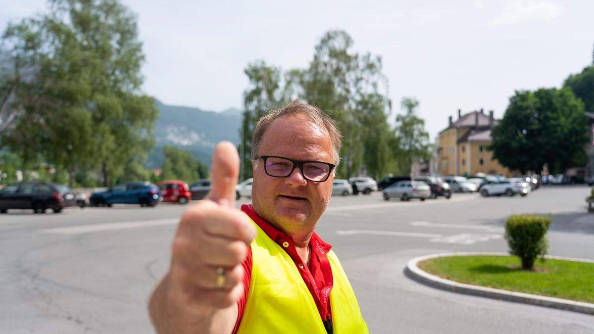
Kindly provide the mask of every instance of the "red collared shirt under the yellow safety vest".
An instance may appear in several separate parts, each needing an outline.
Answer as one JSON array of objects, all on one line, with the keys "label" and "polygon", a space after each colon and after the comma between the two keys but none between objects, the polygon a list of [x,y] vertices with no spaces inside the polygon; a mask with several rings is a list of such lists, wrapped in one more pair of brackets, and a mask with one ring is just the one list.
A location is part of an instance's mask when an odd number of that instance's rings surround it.
[{"label": "red collared shirt under the yellow safety vest", "polygon": [[[321,238],[314,232],[314,234],[311,236],[311,239],[309,240],[309,244],[311,245],[311,260],[309,260],[308,266],[297,254],[293,238],[287,237],[282,231],[279,231],[279,229],[268,223],[266,220],[260,218],[251,205],[244,204],[241,206],[241,210],[247,213],[249,218],[254,220],[254,222],[260,226],[262,231],[268,235],[268,238],[274,240],[280,245],[281,248],[283,248],[283,250],[287,252],[287,254],[289,254],[290,258],[293,260],[293,263],[295,263],[295,266],[299,270],[299,273],[301,273],[301,278],[303,278],[305,285],[307,285],[309,293],[311,293],[312,297],[314,297],[315,305],[318,308],[318,312],[320,312],[322,321],[326,321],[326,319],[330,318],[331,312],[329,296],[333,282],[332,271],[330,269],[330,263],[328,262],[327,253],[330,251],[332,246],[322,241]],[[285,242],[287,242],[287,244],[285,244]],[[244,295],[237,302],[238,316],[237,322],[235,323],[235,328],[232,332],[233,334],[237,333],[239,323],[241,322],[241,318],[244,315],[245,302],[248,299],[249,281],[252,275],[251,247],[248,247],[248,254],[242,263],[242,266],[244,266],[245,272],[243,281]]]}]

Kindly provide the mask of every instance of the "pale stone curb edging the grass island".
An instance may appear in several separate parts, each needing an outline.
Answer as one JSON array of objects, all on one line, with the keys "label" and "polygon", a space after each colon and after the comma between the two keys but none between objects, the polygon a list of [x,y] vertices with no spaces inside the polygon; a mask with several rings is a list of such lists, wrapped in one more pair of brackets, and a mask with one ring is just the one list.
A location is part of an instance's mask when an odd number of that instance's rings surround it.
[{"label": "pale stone curb edging the grass island", "polygon": [[[494,288],[486,288],[485,286],[471,285],[465,283],[459,283],[444,279],[439,276],[431,275],[424,270],[419,269],[417,264],[424,260],[435,259],[438,257],[450,257],[450,256],[471,256],[471,255],[494,255],[494,256],[509,256],[507,253],[441,253],[431,254],[427,256],[415,257],[415,259],[409,260],[406,268],[405,275],[422,283],[424,285],[431,286],[432,288],[442,289],[450,292],[457,292],[459,294],[474,295],[478,297],[493,298],[497,300],[511,301],[514,303],[538,305],[544,307],[558,308],[560,310],[568,310],[579,313],[585,313],[594,315],[594,304],[585,303],[583,301],[573,301],[554,297],[545,297],[541,295],[526,294],[524,292],[514,292]],[[545,256],[545,259],[555,260],[571,260],[578,262],[594,263],[594,260],[586,259],[574,259],[571,257],[560,257],[560,256]]]}]

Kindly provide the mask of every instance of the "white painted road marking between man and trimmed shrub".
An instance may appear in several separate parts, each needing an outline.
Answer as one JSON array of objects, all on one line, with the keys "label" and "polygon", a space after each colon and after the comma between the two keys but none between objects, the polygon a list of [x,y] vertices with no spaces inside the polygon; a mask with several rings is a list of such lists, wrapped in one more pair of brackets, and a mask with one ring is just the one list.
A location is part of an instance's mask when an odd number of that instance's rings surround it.
[{"label": "white painted road marking between man and trimmed shrub", "polygon": [[349,230],[338,230],[336,234],[339,235],[356,235],[356,234],[369,234],[369,235],[390,235],[393,237],[416,237],[416,238],[428,238],[430,242],[443,242],[445,244],[460,244],[460,245],[472,245],[475,242],[484,242],[489,240],[501,239],[500,234],[454,234],[454,235],[441,235],[441,234],[429,234],[429,233],[414,233],[414,232],[397,232],[397,231],[375,231],[369,229],[349,229]]}]

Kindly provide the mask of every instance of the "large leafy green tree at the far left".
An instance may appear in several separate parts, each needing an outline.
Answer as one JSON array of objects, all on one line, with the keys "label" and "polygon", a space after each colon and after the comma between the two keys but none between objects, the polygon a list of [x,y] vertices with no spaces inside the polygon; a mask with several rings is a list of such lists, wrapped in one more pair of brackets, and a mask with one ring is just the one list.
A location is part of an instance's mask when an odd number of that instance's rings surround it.
[{"label": "large leafy green tree at the far left", "polygon": [[67,169],[70,185],[77,168],[100,167],[108,186],[153,144],[157,109],[140,93],[136,20],[117,0],[50,4],[49,14],[11,24],[2,37],[17,71],[15,110],[22,111],[4,141],[26,160],[40,153]]}]

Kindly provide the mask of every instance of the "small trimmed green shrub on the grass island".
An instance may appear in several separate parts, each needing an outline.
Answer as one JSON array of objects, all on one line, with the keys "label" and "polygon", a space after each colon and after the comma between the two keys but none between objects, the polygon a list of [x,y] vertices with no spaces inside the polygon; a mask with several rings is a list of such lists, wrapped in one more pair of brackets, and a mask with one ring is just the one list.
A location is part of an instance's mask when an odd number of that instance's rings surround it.
[{"label": "small trimmed green shrub on the grass island", "polygon": [[512,215],[505,222],[505,239],[510,247],[510,254],[519,256],[522,269],[532,270],[534,261],[546,254],[548,241],[546,231],[551,219],[536,215]]}]

